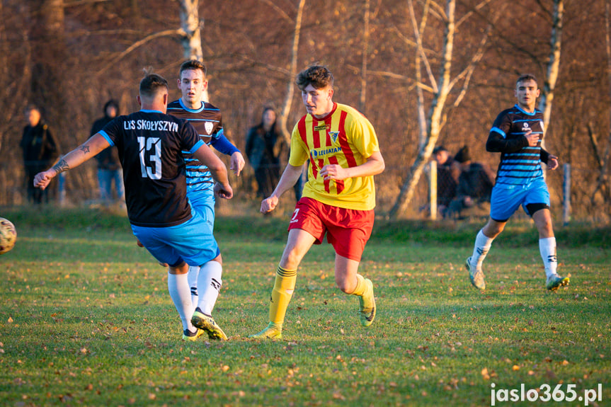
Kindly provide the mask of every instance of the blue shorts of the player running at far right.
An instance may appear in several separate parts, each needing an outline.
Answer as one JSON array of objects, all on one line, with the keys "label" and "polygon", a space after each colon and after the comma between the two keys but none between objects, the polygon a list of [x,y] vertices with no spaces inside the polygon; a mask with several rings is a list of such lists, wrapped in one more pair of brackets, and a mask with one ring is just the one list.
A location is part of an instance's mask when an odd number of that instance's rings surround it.
[{"label": "blue shorts of the player running at far right", "polygon": [[527,205],[544,205],[549,208],[549,191],[543,179],[528,185],[496,184],[490,197],[490,217],[506,222],[522,205],[524,212],[532,216]]}]

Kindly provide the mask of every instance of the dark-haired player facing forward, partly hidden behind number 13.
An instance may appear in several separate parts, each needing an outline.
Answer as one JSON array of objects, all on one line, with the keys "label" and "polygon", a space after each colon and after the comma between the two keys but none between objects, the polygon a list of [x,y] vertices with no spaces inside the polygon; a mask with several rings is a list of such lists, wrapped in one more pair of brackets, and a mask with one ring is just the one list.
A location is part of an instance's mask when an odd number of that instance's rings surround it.
[{"label": "dark-haired player facing forward, partly hidden behind number 13", "polygon": [[[168,104],[168,114],[185,119],[198,131],[200,139],[208,146],[215,147],[222,154],[231,157],[229,168],[236,176],[244,168],[244,156],[224,136],[221,110],[203,101],[207,89],[206,67],[202,62],[191,59],[183,62],[178,71],[178,89],[181,98]],[[212,230],[215,226],[214,180],[210,170],[197,157],[183,151],[187,170],[187,197],[191,207],[199,212]],[[222,285],[222,256],[210,260],[201,267],[189,268],[189,285],[193,304],[198,304],[194,319],[208,321],[205,331],[210,339],[227,340],[227,336],[212,319],[212,309],[217,302]],[[198,290],[198,286],[201,290]]]}]

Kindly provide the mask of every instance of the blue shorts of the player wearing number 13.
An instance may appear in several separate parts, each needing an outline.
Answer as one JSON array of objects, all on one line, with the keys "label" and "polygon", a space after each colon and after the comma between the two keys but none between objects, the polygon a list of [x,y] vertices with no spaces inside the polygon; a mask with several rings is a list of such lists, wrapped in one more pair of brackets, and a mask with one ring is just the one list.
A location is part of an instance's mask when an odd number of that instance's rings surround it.
[{"label": "blue shorts of the player wearing number 13", "polygon": [[212,227],[198,212],[187,222],[171,227],[141,227],[132,224],[134,236],[159,263],[171,267],[181,265],[201,266],[219,256],[221,251]]}]

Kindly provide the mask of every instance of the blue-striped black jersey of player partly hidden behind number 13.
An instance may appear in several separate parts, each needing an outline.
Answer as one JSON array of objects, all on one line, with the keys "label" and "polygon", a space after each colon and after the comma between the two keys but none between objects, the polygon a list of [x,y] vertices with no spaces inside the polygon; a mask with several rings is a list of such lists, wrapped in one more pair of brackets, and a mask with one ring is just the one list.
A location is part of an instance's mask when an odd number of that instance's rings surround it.
[{"label": "blue-striped black jersey of player partly hidden behind number 13", "polygon": [[[219,139],[223,136],[222,115],[219,108],[214,105],[202,102],[199,109],[187,108],[181,99],[168,104],[168,114],[182,119],[195,127],[200,139],[210,146],[212,139]],[[183,151],[187,170],[187,190],[191,200],[197,199],[197,195],[206,195],[214,199],[214,183],[210,170],[196,159],[193,154]],[[193,195],[195,193],[195,195]]]}]

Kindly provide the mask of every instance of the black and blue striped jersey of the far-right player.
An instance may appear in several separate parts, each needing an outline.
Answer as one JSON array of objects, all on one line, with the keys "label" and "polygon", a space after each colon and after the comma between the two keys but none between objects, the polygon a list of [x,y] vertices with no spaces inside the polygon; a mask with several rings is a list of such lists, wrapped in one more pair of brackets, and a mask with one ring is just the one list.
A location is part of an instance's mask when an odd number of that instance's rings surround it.
[{"label": "black and blue striped jersey of the far-right player", "polygon": [[[528,145],[524,136],[528,130],[539,134],[536,147]],[[486,151],[501,153],[496,184],[527,185],[543,178],[541,161],[547,163],[549,156],[541,148],[543,135],[543,113],[540,110],[529,113],[516,104],[496,117],[486,142]]]}]

